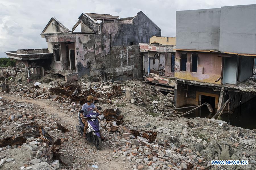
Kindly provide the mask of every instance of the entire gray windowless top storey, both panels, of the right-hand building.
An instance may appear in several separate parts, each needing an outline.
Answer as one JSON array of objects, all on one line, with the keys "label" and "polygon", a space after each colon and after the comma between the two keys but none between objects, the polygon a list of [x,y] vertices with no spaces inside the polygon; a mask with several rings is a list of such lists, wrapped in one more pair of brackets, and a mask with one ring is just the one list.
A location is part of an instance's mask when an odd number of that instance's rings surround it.
[{"label": "entire gray windowless top storey, both panels, of the right-hand building", "polygon": [[256,4],[176,11],[176,48],[256,54]]}]

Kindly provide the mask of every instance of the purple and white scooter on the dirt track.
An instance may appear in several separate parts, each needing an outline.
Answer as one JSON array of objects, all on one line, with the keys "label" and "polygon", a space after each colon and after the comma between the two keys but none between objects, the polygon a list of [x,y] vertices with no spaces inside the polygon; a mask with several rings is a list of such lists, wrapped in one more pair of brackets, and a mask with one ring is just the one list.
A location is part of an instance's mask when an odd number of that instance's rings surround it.
[{"label": "purple and white scooter on the dirt track", "polygon": [[[84,133],[84,124],[82,119],[80,118],[80,113],[83,113],[83,110],[78,112],[78,123],[79,125],[76,126],[77,131],[83,136]],[[85,117],[90,118],[87,120],[88,122],[88,129],[86,130],[86,140],[90,143],[94,143],[95,147],[100,150],[102,147],[102,142],[100,138],[100,122],[96,118],[99,116],[97,112],[92,112],[92,114],[86,115]]]}]

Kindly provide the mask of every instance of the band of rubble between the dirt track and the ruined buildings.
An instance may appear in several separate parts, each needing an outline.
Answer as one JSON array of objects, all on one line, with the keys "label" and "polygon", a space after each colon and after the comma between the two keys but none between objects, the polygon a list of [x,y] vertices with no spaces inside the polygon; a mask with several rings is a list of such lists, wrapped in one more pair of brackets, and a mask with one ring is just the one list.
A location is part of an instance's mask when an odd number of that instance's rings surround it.
[{"label": "band of rubble between the dirt track and the ruined buildings", "polygon": [[[7,70],[8,73],[11,69]],[[10,72],[11,73],[11,72]],[[9,74],[10,74],[9,73]],[[25,72],[22,72],[24,75]],[[23,75],[22,74],[22,75]],[[62,104],[62,109],[75,112],[87,102],[87,96],[93,95],[96,103],[105,106],[122,106],[129,101],[131,104],[144,107],[153,116],[174,113],[174,99],[171,94],[163,95],[158,89],[148,86],[146,82],[88,82],[84,79],[65,82],[56,74],[47,74],[33,83],[24,83],[24,76],[18,73],[15,81],[7,82],[9,91],[17,96],[29,99],[49,99]],[[7,85],[7,86],[8,86]]]}]

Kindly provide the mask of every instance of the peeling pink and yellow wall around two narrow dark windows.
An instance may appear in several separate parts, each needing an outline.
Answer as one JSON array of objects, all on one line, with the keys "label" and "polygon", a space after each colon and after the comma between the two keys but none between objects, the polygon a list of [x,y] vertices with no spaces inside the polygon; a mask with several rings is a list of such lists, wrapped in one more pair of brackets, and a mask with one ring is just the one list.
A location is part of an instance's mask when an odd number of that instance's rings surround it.
[{"label": "peeling pink and yellow wall around two narrow dark windows", "polygon": [[[187,53],[186,71],[180,71],[181,52]],[[175,57],[175,77],[179,79],[221,84],[215,82],[221,76],[222,58],[218,54],[198,52],[197,72],[191,72],[191,52],[176,51]]]}]

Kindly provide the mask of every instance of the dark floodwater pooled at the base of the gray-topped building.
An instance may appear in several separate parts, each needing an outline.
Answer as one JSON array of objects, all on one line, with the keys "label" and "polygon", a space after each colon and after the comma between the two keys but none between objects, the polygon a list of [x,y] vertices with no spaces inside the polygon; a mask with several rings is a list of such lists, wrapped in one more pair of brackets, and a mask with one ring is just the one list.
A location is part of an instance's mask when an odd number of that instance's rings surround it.
[{"label": "dark floodwater pooled at the base of the gray-topped building", "polygon": [[[183,107],[192,106],[192,105],[185,105]],[[193,109],[186,108],[186,109],[179,109],[177,111],[179,112],[187,112]],[[216,113],[217,109],[214,110],[214,113]],[[211,114],[210,118],[214,115],[214,113]],[[209,110],[207,109],[207,106],[201,107],[201,109],[196,109],[193,113],[187,114],[184,117],[185,118],[206,118],[210,114]],[[222,117],[222,120],[227,122],[230,125],[233,126],[239,126],[241,128],[245,129],[256,129],[256,97],[247,101],[246,103],[242,104],[241,107],[236,108],[233,111],[233,114],[222,114],[220,117]]]}]

